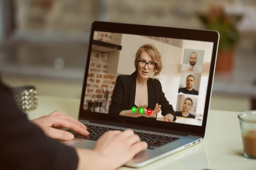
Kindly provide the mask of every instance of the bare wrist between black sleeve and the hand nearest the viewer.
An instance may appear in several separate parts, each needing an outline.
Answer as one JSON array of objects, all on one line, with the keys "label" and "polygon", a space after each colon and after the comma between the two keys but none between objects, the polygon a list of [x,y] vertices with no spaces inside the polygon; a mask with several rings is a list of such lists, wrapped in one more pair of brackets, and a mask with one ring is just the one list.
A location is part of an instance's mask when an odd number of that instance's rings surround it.
[{"label": "bare wrist between black sleeve and the hand nearest the viewer", "polygon": [[76,149],[79,157],[77,170],[107,170],[107,159],[99,153],[88,149]]}]

